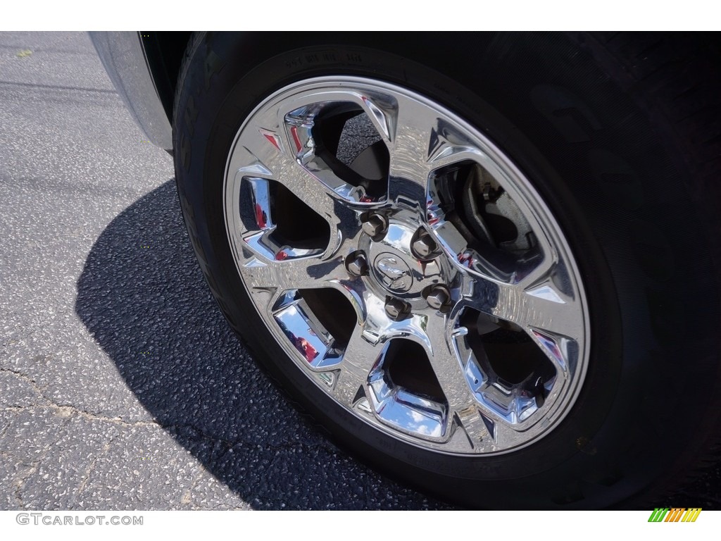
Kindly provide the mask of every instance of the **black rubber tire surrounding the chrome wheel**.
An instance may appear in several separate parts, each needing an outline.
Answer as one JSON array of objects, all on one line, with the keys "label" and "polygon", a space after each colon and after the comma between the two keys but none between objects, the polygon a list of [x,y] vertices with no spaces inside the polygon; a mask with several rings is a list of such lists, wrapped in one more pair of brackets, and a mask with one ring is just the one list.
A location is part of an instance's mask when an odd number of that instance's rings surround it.
[{"label": "black rubber tire surrounding the chrome wheel", "polygon": [[[198,35],[173,124],[187,230],[231,327],[356,456],[464,506],[637,508],[718,439],[719,60],[716,43],[676,35]],[[288,363],[257,316],[226,236],[226,160],[258,103],[322,75],[391,82],[453,110],[559,221],[587,290],[591,351],[571,412],[534,444],[454,457],[392,439]]]}]

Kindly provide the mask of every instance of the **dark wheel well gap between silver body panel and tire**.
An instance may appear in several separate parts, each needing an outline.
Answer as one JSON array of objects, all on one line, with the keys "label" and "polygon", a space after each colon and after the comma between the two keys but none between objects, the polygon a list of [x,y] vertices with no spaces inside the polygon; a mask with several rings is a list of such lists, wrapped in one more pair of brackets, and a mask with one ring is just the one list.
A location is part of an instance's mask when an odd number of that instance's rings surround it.
[{"label": "dark wheel well gap between silver body panel and tire", "polygon": [[172,122],[175,86],[193,32],[141,32],[148,65],[165,114]]}]

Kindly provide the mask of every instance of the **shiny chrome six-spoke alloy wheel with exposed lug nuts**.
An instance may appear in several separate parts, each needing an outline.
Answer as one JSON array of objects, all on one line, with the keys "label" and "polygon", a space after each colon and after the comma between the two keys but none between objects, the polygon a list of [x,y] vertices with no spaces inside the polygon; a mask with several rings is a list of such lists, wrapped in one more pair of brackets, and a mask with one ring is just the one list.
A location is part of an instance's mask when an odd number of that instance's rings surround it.
[{"label": "shiny chrome six-spoke alloy wheel with exposed lug nuts", "polygon": [[271,335],[385,434],[509,452],[578,397],[590,323],[570,247],[531,182],[446,107],[350,76],[280,89],[236,135],[224,214]]}]

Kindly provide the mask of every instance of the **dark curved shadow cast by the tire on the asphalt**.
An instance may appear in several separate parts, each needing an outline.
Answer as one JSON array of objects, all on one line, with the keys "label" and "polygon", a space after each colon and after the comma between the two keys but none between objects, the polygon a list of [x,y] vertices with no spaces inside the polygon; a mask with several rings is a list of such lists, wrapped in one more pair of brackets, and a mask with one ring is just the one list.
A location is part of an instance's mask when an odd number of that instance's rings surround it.
[{"label": "dark curved shadow cast by the tire on the asphalt", "polygon": [[76,312],[143,407],[251,506],[443,507],[338,451],[270,385],[205,286],[173,180],[97,239]]}]

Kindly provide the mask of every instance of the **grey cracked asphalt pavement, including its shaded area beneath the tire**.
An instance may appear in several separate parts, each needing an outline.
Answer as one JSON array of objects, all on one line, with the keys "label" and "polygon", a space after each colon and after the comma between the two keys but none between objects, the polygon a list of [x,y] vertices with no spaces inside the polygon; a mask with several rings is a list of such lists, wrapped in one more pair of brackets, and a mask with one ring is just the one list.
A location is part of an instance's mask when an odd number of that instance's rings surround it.
[{"label": "grey cracked asphalt pavement, including its shaded area beneath the tire", "polygon": [[[0,509],[451,509],[257,369],[87,35],[0,33],[0,128]],[[720,481],[670,505],[719,509]]]}]

